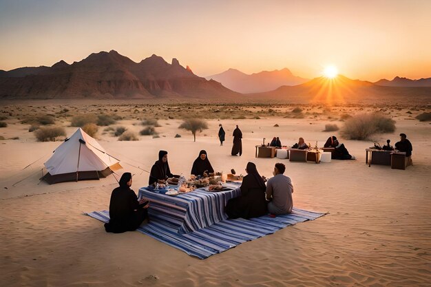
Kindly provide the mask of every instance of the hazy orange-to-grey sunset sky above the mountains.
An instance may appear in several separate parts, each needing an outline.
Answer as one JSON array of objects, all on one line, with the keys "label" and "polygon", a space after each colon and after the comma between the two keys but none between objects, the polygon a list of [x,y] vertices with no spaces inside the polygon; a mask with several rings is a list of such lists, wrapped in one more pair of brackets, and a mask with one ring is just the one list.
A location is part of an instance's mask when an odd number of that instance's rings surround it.
[{"label": "hazy orange-to-grey sunset sky above the mountains", "polygon": [[0,70],[116,50],[198,76],[287,67],[349,78],[431,77],[431,1],[0,0]]}]

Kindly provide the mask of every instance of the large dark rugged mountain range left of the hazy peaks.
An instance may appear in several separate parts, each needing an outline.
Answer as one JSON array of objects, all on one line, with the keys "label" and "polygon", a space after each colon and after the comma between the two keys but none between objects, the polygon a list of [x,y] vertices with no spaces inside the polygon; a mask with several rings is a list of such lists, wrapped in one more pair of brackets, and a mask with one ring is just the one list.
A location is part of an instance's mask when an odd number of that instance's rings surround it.
[{"label": "large dark rugged mountain range left of the hazy peaks", "polygon": [[238,93],[155,54],[140,63],[112,50],[71,65],[0,70],[0,98],[233,98]]}]

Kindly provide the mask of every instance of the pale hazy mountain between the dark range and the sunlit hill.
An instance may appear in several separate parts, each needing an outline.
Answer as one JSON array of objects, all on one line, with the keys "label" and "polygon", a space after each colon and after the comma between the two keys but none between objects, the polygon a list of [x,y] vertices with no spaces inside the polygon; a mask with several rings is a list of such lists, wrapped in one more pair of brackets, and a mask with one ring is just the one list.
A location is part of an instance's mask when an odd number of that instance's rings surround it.
[{"label": "pale hazy mountain between the dark range and the sunlit hill", "polygon": [[282,85],[299,85],[308,81],[306,78],[294,76],[290,70],[263,71],[255,74],[244,74],[235,69],[229,69],[220,74],[205,77],[208,80],[213,79],[228,87],[229,89],[240,93],[257,93],[267,92],[277,89]]}]

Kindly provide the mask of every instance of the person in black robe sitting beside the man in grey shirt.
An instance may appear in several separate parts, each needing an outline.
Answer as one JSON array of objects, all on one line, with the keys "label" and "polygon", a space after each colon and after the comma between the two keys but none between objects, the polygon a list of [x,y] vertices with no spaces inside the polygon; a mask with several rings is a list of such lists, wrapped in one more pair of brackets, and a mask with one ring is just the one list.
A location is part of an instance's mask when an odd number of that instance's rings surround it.
[{"label": "person in black robe sitting beside the man in grey shirt", "polygon": [[249,162],[246,167],[247,175],[242,178],[241,195],[227,202],[226,213],[229,218],[259,217],[267,213],[265,200],[266,185],[262,176],[257,172],[256,165]]}]

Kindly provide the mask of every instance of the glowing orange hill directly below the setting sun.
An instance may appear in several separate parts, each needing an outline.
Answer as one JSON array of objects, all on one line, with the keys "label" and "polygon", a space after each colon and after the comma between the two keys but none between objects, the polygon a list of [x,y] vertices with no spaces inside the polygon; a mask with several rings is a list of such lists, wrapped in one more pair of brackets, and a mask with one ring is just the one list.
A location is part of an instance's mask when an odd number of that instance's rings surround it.
[{"label": "glowing orange hill directly below the setting sun", "polygon": [[271,92],[249,94],[250,98],[266,100],[288,100],[292,103],[344,104],[377,101],[407,103],[412,99],[423,98],[431,103],[431,87],[385,87],[367,81],[352,80],[346,76],[334,79],[325,77],[296,86],[282,86]]}]

